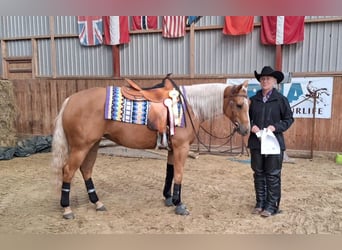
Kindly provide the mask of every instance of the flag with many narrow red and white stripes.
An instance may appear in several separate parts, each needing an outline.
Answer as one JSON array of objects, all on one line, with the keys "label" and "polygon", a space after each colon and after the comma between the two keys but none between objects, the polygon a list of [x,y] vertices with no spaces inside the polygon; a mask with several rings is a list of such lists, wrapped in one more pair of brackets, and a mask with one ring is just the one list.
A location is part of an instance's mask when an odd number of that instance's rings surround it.
[{"label": "flag with many narrow red and white stripes", "polygon": [[185,36],[186,16],[163,16],[163,33],[166,38]]}]

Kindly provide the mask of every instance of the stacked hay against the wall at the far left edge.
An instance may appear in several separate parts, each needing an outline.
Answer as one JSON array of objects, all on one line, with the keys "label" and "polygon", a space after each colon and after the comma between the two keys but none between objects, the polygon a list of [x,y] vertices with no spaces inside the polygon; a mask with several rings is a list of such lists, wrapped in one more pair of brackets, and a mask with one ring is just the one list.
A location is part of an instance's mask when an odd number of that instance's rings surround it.
[{"label": "stacked hay against the wall at the far left edge", "polygon": [[0,147],[16,145],[16,103],[13,84],[0,80]]}]

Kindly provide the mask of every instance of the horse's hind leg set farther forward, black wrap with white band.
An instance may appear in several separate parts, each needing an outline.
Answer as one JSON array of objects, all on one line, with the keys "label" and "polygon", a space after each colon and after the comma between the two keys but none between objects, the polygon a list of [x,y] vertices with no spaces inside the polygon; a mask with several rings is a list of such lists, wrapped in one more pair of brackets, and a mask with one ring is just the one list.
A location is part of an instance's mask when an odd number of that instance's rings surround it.
[{"label": "horse's hind leg set farther forward, black wrap with white band", "polygon": [[96,194],[93,180],[91,178],[91,175],[93,173],[93,167],[94,167],[96,157],[97,157],[99,144],[100,144],[100,141],[95,143],[95,145],[90,149],[90,151],[88,152],[86,158],[84,159],[81,165],[80,171],[84,179],[84,183],[88,192],[90,202],[96,205],[97,211],[105,211],[106,208],[103,205],[103,203],[99,201],[99,198],[97,197],[97,194]]}]

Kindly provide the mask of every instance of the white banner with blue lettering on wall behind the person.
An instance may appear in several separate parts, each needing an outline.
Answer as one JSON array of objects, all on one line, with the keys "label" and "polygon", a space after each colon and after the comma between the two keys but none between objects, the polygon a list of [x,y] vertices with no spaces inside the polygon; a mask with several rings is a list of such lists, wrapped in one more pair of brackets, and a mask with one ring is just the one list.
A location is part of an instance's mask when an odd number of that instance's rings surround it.
[{"label": "white banner with blue lettering on wall behind the person", "polygon": [[[227,79],[227,83],[240,84],[248,80],[248,96],[251,97],[260,89],[255,78]],[[279,91],[287,97],[294,118],[312,118],[314,96],[316,95],[315,117],[331,118],[333,77],[303,77],[292,78],[291,83],[281,83]]]}]

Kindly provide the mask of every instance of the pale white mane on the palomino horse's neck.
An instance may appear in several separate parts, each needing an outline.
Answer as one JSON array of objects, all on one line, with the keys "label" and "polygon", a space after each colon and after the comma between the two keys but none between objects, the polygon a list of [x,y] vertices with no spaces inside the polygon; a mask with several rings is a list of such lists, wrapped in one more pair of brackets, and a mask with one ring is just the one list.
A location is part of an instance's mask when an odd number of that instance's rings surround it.
[{"label": "pale white mane on the palomino horse's neck", "polygon": [[195,116],[200,120],[208,120],[223,112],[223,92],[230,84],[203,83],[183,86],[183,93],[191,105]]}]

